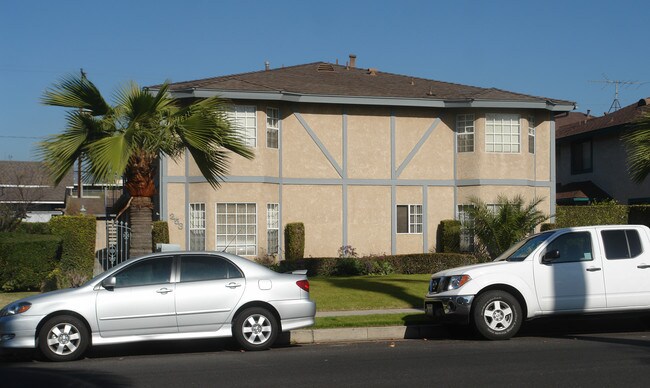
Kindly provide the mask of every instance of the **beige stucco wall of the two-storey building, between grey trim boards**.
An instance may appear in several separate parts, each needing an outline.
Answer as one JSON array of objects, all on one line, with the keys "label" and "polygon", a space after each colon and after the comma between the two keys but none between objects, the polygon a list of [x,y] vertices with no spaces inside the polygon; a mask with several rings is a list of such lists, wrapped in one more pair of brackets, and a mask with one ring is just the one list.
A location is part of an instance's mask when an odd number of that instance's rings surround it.
[{"label": "beige stucco wall of the two-storey building, between grey trim boards", "polygon": [[[517,186],[512,182],[545,181],[550,177],[550,125],[548,113],[535,111],[505,111],[521,116],[521,151],[517,154],[485,153],[485,114],[489,110],[469,111],[475,114],[475,151],[456,154],[454,150],[456,114],[460,110],[432,110],[424,108],[388,108],[359,106],[322,106],[301,104],[296,112],[318,137],[335,163],[344,165],[344,141],[347,140],[348,181],[339,175],[307,129],[298,120],[293,105],[279,107],[282,131],[282,179],[280,181],[280,150],[266,147],[265,102],[244,102],[257,107],[256,157],[252,161],[238,156],[231,159],[230,175],[249,179],[249,183],[228,182],[218,189],[207,183],[188,183],[189,198],[185,198],[185,183],[168,183],[165,215],[169,222],[170,242],[186,249],[187,204],[206,204],[206,248],[215,248],[215,204],[217,202],[255,203],[257,205],[258,255],[267,247],[266,204],[279,203],[282,198],[283,240],[284,226],[289,222],[303,222],[306,229],[307,256],[335,256],[345,239],[361,255],[423,252],[435,249],[436,232],[443,219],[455,217],[454,204],[466,203],[476,195],[492,203],[499,194],[513,197],[523,195],[527,200],[543,196],[543,211],[550,212],[550,188]],[[504,111],[494,111],[502,113]],[[391,113],[394,118],[395,144],[391,145]],[[528,153],[528,115],[534,114],[537,124],[537,151]],[[397,170],[416,148],[418,142],[436,119],[440,122],[423,142],[412,160],[397,176],[395,198],[391,197],[391,150],[394,148]],[[344,123],[346,120],[346,123]],[[344,125],[347,138],[344,139]],[[454,173],[454,161],[457,170]],[[184,159],[169,161],[166,174],[170,181],[184,181]],[[200,181],[200,172],[194,162],[190,165],[192,181]],[[397,175],[397,173],[395,172]],[[463,186],[454,188],[457,179],[503,180],[503,185]],[[357,180],[367,180],[358,182]],[[402,181],[408,180],[405,184]],[[415,186],[413,186],[413,181]],[[347,183],[347,204],[343,203]],[[363,184],[363,185],[360,185]],[[426,192],[427,202],[423,190]],[[282,192],[280,195],[280,191]],[[457,194],[457,196],[456,196]],[[397,205],[426,205],[424,217],[428,221],[423,234],[391,236],[392,216]],[[542,207],[541,206],[541,207]],[[347,207],[347,225],[344,208]],[[182,227],[181,227],[182,225]],[[395,247],[392,247],[392,241]],[[282,243],[283,245],[283,243]]]}]

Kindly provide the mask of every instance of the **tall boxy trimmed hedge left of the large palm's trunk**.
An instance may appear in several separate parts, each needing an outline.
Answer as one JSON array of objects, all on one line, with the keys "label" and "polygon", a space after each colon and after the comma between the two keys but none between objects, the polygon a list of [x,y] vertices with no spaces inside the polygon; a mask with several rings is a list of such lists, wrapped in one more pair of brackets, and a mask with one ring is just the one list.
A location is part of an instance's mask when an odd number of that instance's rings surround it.
[{"label": "tall boxy trimmed hedge left of the large palm's trunk", "polygon": [[57,288],[77,286],[90,279],[95,264],[96,220],[91,216],[60,216],[50,220],[52,234],[61,237]]}]

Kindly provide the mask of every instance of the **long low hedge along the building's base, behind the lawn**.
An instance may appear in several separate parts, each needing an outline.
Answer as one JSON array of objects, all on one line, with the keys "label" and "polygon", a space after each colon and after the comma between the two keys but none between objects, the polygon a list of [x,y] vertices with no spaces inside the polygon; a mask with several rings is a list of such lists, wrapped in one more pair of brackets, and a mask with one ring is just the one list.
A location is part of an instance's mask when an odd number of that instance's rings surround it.
[{"label": "long low hedge along the building's base, behind the lawn", "polygon": [[476,264],[473,255],[458,253],[418,253],[363,258],[309,258],[285,260],[275,268],[279,272],[306,269],[309,276],[357,276],[396,274],[428,274],[443,269]]}]

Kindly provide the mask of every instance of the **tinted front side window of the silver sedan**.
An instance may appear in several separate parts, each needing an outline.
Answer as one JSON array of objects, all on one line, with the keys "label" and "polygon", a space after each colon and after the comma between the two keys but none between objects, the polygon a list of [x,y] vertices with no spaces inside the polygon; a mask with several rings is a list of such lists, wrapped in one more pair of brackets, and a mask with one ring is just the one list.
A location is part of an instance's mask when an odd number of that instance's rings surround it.
[{"label": "tinted front side window of the silver sedan", "polygon": [[157,257],[130,265],[115,275],[115,286],[128,287],[169,283],[172,260],[171,257]]}]

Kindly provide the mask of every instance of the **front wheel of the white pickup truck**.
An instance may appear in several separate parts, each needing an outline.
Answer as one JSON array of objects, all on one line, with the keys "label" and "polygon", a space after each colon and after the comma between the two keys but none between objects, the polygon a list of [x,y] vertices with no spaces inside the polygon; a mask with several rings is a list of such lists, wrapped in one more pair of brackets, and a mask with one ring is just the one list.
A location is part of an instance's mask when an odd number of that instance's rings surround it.
[{"label": "front wheel of the white pickup truck", "polygon": [[508,339],[517,334],[521,315],[519,301],[505,291],[488,291],[474,300],[474,327],[490,340]]}]

